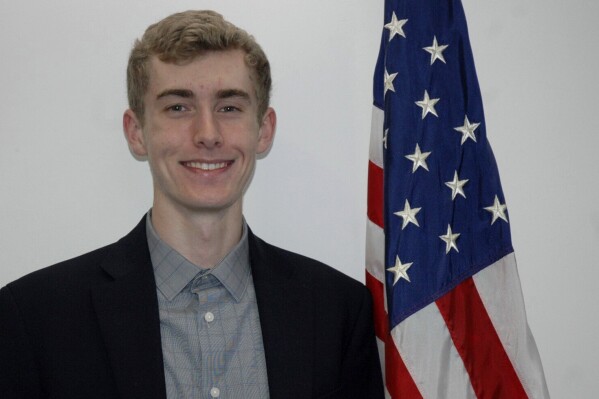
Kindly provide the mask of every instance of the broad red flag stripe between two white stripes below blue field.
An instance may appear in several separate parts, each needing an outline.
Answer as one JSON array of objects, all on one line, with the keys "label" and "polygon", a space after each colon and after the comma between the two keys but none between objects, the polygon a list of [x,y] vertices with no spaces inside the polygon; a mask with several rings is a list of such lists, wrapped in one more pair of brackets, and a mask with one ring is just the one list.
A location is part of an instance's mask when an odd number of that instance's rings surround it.
[{"label": "broad red flag stripe between two white stripes below blue field", "polygon": [[480,295],[469,278],[437,300],[477,398],[527,398]]}]

